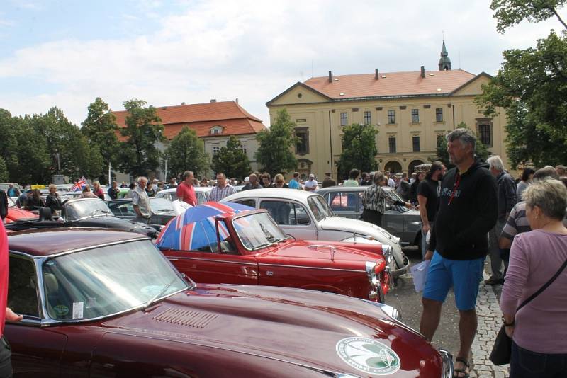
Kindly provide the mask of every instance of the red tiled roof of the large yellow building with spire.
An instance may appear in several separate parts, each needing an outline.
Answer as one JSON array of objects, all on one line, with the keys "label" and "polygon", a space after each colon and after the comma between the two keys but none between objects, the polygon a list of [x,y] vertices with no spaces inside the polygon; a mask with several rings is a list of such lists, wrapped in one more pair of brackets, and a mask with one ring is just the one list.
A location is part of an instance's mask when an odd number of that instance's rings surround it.
[{"label": "red tiled roof of the large yellow building with spire", "polygon": [[[461,69],[425,71],[425,77],[421,77],[420,71],[381,72],[378,74],[378,80],[375,79],[374,74],[357,74],[332,76],[331,83],[328,76],[313,77],[303,84],[327,97],[340,100],[344,98],[448,94],[474,77],[476,75]],[[341,96],[340,93],[344,94]]]}]

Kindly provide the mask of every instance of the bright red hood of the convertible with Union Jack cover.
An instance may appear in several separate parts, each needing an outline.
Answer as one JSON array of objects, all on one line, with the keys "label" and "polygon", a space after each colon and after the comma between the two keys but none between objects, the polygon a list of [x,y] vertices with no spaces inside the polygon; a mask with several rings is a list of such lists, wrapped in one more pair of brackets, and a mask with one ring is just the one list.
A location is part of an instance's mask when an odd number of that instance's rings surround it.
[{"label": "bright red hood of the convertible with Union Jack cover", "polygon": [[[333,253],[333,260],[331,260],[331,251]],[[269,251],[259,255],[262,256],[277,256],[283,259],[293,259],[296,261],[309,260],[313,264],[313,260],[318,260],[321,267],[334,267],[334,268],[351,268],[364,270],[364,263],[366,261],[376,261],[378,255],[376,253],[361,251],[355,248],[348,248],[344,246],[336,246],[332,243],[325,243],[321,240],[298,240],[282,244],[275,251]],[[325,262],[327,262],[325,264]],[[342,266],[337,266],[343,263]],[[328,266],[327,266],[328,265]]]}]

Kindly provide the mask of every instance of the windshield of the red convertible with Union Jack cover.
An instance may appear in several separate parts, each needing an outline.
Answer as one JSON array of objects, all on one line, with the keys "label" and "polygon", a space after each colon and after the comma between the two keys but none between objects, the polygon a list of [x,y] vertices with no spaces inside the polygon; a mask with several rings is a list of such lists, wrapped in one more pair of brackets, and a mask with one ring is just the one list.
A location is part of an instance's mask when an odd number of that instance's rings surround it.
[{"label": "windshield of the red convertible with Union Jack cover", "polygon": [[267,212],[245,215],[232,221],[242,244],[254,251],[287,239]]}]

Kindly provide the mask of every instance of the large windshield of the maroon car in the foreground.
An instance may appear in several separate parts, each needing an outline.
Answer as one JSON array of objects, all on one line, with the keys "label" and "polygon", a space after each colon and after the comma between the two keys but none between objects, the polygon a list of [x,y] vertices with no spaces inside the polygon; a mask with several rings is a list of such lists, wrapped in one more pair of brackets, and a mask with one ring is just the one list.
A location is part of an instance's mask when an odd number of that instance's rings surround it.
[{"label": "large windshield of the maroon car in the foreground", "polygon": [[43,285],[47,314],[55,320],[117,314],[187,287],[149,240],[51,258],[43,263]]}]

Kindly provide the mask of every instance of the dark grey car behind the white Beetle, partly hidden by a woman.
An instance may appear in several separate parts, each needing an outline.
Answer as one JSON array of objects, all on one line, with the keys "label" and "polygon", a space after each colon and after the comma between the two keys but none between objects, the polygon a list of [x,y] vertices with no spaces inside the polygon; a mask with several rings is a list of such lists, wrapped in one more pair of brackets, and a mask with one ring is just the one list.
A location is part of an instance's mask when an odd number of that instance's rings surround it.
[{"label": "dark grey car behind the white Beetle, partly hidden by a woman", "polygon": [[[362,193],[368,186],[331,186],[317,190],[339,217],[360,219],[362,216]],[[392,201],[402,198],[394,188],[383,187]],[[421,246],[420,212],[405,206],[391,205],[386,201],[386,212],[382,216],[382,227],[390,234],[398,236],[403,246]]]}]

